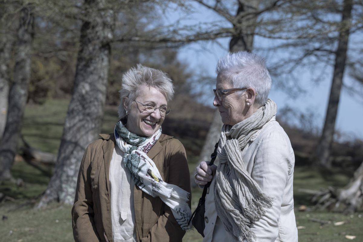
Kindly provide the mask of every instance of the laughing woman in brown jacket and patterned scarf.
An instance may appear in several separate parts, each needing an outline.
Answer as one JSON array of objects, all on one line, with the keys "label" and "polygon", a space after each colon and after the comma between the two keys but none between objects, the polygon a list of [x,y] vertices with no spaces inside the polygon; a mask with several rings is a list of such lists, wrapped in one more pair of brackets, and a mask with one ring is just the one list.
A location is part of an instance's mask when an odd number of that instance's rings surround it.
[{"label": "laughing woman in brown jacket and patterned scarf", "polygon": [[189,229],[185,149],[162,134],[174,89],[159,70],[138,65],[123,75],[114,134],[91,143],[72,209],[75,241],[182,241]]}]

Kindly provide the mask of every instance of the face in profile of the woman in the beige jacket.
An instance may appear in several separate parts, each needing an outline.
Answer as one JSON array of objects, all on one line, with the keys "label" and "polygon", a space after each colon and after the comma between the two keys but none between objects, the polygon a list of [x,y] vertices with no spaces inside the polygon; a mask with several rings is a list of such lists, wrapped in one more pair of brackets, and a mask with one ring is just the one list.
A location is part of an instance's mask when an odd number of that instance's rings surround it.
[{"label": "face in profile of the woman in the beige jacket", "polygon": [[[217,75],[216,89],[234,88],[232,82],[229,81],[228,75],[220,73]],[[246,107],[246,90],[234,91],[227,95],[223,95],[223,101],[219,101],[216,97],[213,105],[218,107],[222,122],[233,126],[248,117],[249,107]],[[241,95],[241,92],[244,94]]]}]

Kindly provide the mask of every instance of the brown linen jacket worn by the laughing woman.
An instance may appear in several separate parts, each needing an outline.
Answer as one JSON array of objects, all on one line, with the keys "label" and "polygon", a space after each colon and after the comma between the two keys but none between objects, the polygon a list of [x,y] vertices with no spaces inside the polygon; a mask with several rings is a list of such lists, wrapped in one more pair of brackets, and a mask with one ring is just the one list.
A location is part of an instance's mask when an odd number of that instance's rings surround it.
[{"label": "brown linen jacket worn by the laughing woman", "polygon": [[[73,237],[77,242],[113,242],[109,169],[115,137],[113,134],[100,136],[87,147],[79,168],[72,208]],[[179,140],[162,134],[147,155],[164,181],[191,193],[185,149]],[[189,196],[189,206],[190,201]],[[159,197],[152,197],[135,186],[134,206],[137,241],[182,241],[185,232]]]}]

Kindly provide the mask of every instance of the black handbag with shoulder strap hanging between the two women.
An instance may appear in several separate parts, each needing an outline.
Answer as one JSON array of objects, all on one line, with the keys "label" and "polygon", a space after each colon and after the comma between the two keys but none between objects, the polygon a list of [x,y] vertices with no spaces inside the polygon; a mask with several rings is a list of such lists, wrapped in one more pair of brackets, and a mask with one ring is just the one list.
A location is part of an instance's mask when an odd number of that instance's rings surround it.
[{"label": "black handbag with shoulder strap hanging between the two women", "polygon": [[[209,162],[208,165],[213,165],[213,163],[217,157],[218,143],[219,142],[217,142],[216,145],[214,146],[215,148],[214,148],[214,152],[211,155],[211,162]],[[190,221],[192,221],[192,225],[195,227],[195,229],[198,231],[198,233],[200,233],[203,237],[204,237],[203,231],[205,228],[205,222],[204,222],[205,196],[207,195],[207,190],[208,190],[209,186],[211,185],[211,182],[212,181],[210,181],[204,185],[203,193],[202,193],[201,198],[199,198],[198,206],[192,213],[192,216],[188,222],[188,224],[189,224]]]}]

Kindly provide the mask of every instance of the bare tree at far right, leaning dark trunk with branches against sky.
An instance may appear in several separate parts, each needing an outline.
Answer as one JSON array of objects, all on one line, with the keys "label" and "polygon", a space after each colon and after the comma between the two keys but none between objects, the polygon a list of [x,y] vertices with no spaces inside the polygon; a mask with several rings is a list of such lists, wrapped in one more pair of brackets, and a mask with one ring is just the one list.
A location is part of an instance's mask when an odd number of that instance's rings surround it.
[{"label": "bare tree at far right, leaning dark trunk with branches against sky", "polygon": [[[325,123],[316,151],[311,156],[313,163],[324,170],[331,168],[331,145],[334,139],[335,120],[337,117],[339,97],[344,87],[344,71],[352,71],[356,53],[349,54],[348,38],[352,34],[362,33],[362,1],[319,0],[291,1],[283,8],[277,9],[275,15],[286,16],[285,19],[266,19],[270,21],[261,25],[261,36],[278,39],[280,43],[274,50],[285,50],[290,56],[278,59],[270,68],[278,75],[280,86],[297,87],[301,92],[306,88],[299,85],[299,79],[293,73],[298,67],[311,68],[313,81],[319,82],[326,76],[326,70],[333,67],[332,85]],[[280,31],[277,31],[280,30]],[[362,46],[354,46],[362,51]],[[350,60],[350,58],[352,60]],[[358,58],[359,59],[359,58]],[[318,67],[318,68],[317,68]],[[351,75],[354,79],[359,79]],[[283,83],[281,83],[281,80]],[[292,80],[292,82],[291,82]],[[292,84],[292,85],[291,85]],[[291,92],[291,89],[289,90]],[[292,92],[292,93],[296,93]]]}]

